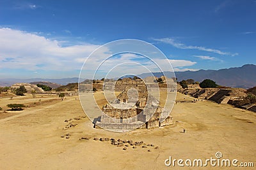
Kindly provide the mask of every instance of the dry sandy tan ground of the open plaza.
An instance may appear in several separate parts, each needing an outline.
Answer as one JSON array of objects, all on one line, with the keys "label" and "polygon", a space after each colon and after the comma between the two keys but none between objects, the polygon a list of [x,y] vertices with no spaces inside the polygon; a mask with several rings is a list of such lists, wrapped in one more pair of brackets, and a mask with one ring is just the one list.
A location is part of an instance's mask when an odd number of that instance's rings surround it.
[{"label": "dry sandy tan ground of the open plaza", "polygon": [[[193,99],[177,94],[177,100],[184,97]],[[38,101],[39,97],[28,98],[20,97],[20,103]],[[0,106],[17,103],[15,100],[0,99]],[[227,104],[178,103],[172,111],[177,121],[174,125],[125,133],[93,129],[92,122],[83,118],[76,97],[18,112],[0,119],[0,169],[220,169],[209,165],[201,168],[164,165],[170,156],[205,160],[214,159],[216,152],[221,152],[223,159],[253,162],[256,166],[256,114]],[[65,129],[69,122],[64,121],[70,118],[80,120],[70,120],[77,125]],[[184,134],[180,132],[183,127]],[[69,139],[61,138],[66,134],[70,134]],[[79,140],[81,137],[90,139]],[[143,141],[159,149],[128,146],[122,150],[123,147],[113,146],[109,141],[94,141],[94,137]]]}]

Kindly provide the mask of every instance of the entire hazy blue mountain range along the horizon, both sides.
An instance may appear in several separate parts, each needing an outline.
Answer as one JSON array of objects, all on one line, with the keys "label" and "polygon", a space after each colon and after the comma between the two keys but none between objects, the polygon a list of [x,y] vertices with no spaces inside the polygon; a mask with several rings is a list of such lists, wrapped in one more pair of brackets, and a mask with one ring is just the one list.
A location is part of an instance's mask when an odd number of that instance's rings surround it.
[{"label": "entire hazy blue mountain range along the horizon, both sides", "polygon": [[[154,76],[163,76],[163,73],[153,73]],[[152,73],[139,74],[141,78],[151,76]],[[164,72],[164,75],[171,78],[173,75],[171,72]],[[218,85],[227,87],[241,87],[248,89],[256,86],[256,65],[246,64],[241,67],[231,67],[228,69],[219,70],[204,70],[198,71],[176,71],[176,78],[178,81],[188,80],[192,78],[195,81],[203,81],[204,79],[211,79],[216,81]],[[11,86],[13,83],[30,83],[33,81],[49,81],[51,83],[58,83],[60,85],[67,85],[68,83],[77,83],[79,78],[60,78],[60,79],[49,79],[49,78],[29,78],[29,79],[1,79],[0,87]],[[84,79],[83,79],[84,80]],[[83,81],[82,80],[82,81]]]}]

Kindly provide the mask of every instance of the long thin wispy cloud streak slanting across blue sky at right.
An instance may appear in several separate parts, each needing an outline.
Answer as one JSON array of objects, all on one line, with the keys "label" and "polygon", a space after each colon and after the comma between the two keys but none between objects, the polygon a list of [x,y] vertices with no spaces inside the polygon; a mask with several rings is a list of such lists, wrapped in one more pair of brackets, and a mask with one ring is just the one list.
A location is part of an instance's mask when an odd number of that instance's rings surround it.
[{"label": "long thin wispy cloud streak slanting across blue sky at right", "polygon": [[174,39],[172,38],[153,38],[155,41],[159,41],[161,43],[167,43],[170,44],[176,48],[180,48],[180,49],[196,49],[196,50],[200,50],[200,51],[205,51],[205,52],[212,52],[212,53],[218,53],[220,55],[238,55],[238,53],[230,53],[230,52],[222,52],[221,50],[216,50],[213,48],[206,48],[204,46],[192,46],[192,45],[184,45],[183,43],[177,43],[175,42]]}]

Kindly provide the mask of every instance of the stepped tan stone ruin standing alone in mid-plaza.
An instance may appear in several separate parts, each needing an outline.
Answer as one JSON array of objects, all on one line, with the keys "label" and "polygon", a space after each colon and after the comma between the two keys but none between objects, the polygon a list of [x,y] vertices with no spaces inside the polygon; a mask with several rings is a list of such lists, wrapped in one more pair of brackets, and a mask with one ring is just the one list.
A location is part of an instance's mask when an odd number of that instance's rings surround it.
[{"label": "stepped tan stone ruin standing alone in mid-plaza", "polygon": [[159,106],[156,97],[148,94],[144,84],[126,87],[110,104],[102,107],[102,115],[93,121],[104,129],[152,129],[172,125],[173,118]]}]

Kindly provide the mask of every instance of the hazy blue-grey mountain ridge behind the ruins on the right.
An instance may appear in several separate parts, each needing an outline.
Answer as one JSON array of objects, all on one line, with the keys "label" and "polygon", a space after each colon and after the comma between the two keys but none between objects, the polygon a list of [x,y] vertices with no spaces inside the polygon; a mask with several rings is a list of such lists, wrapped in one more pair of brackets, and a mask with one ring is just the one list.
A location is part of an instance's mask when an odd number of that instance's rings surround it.
[{"label": "hazy blue-grey mountain ridge behind the ruins on the right", "polygon": [[[153,73],[154,76],[160,77],[163,73]],[[164,72],[170,78],[172,73]],[[151,76],[151,73],[143,73],[138,76],[145,78]],[[256,66],[253,64],[246,64],[242,67],[231,67],[229,69],[219,70],[204,70],[198,71],[177,71],[175,72],[178,81],[188,80],[189,78],[195,81],[202,81],[206,78],[216,81],[218,85],[227,87],[241,87],[250,88],[256,86]]]}]

